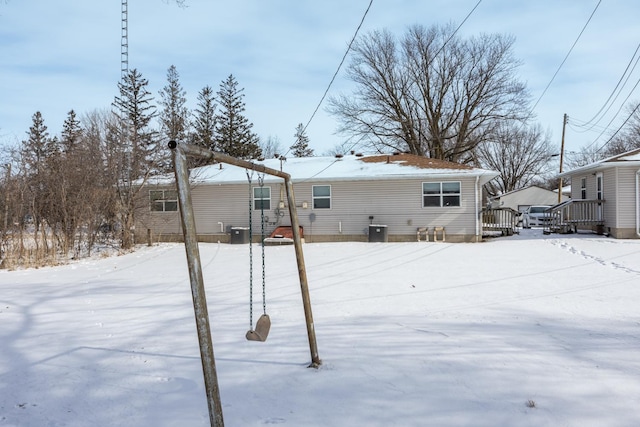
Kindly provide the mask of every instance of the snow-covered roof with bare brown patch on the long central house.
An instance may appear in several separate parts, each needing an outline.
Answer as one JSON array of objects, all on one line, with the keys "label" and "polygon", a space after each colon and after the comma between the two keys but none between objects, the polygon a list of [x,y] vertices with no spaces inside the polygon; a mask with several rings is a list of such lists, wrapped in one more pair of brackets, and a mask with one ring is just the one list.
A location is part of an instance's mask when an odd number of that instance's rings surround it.
[{"label": "snow-covered roof with bare brown patch on the long central house", "polygon": [[[411,154],[291,157],[286,160],[266,159],[254,163],[288,173],[294,183],[410,178],[460,179],[469,176],[479,177],[481,184],[484,184],[498,176],[494,171]],[[246,183],[247,170],[228,164],[213,164],[193,169],[190,178],[192,182],[203,184]],[[257,180],[257,175],[254,175],[254,179]],[[264,181],[280,182],[281,178],[266,175]],[[172,174],[158,176],[150,181],[155,184],[170,182],[173,182]]]}]

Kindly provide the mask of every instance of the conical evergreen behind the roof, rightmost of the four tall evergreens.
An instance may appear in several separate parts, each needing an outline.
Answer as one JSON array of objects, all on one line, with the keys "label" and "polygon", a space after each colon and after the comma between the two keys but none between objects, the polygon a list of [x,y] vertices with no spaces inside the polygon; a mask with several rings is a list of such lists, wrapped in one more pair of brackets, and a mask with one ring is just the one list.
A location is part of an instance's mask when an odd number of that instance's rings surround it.
[{"label": "conical evergreen behind the roof, rightmost of the four tall evergreens", "polygon": [[218,151],[241,159],[255,159],[261,156],[258,135],[251,132],[253,124],[243,115],[245,110],[238,82],[229,75],[220,83],[217,92],[220,112],[216,115],[215,148]]}]

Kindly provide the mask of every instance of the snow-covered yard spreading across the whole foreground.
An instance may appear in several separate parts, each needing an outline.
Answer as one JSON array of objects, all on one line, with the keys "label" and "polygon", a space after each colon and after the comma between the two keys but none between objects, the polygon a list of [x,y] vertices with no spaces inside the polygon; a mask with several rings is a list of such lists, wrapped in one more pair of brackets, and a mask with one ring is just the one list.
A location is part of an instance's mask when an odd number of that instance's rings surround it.
[{"label": "snow-covered yard spreading across the whole foreground", "polygon": [[[317,370],[293,247],[264,343],[248,246],[200,252],[227,426],[640,425],[640,240],[305,244]],[[2,427],[209,425],[182,245],[0,271],[0,340]]]}]

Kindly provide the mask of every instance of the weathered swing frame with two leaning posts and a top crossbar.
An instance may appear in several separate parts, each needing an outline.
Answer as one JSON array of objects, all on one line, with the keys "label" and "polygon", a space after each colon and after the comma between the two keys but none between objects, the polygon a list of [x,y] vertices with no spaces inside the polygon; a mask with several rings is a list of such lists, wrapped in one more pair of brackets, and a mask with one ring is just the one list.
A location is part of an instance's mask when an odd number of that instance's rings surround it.
[{"label": "weathered swing frame with two leaning posts and a top crossbar", "polygon": [[202,263],[200,261],[200,251],[198,249],[198,239],[196,234],[195,216],[191,201],[191,188],[189,185],[189,169],[187,166],[187,156],[198,157],[210,162],[216,161],[234,166],[254,170],[263,174],[273,175],[284,179],[289,204],[289,216],[291,218],[291,229],[293,232],[293,242],[298,264],[298,276],[300,279],[300,290],[302,293],[302,303],[304,306],[305,322],[307,324],[307,337],[309,339],[309,350],[311,352],[311,364],[309,367],[318,368],[322,361],[318,356],[318,345],[313,324],[313,314],[311,312],[311,300],[309,298],[309,284],[307,282],[307,272],[302,252],[302,238],[300,236],[300,223],[296,211],[296,203],[293,194],[293,183],[291,176],[282,171],[268,168],[264,165],[255,164],[246,160],[237,159],[224,153],[219,153],[194,145],[169,141],[171,158],[176,178],[178,191],[178,204],[180,206],[180,220],[184,234],[184,244],[187,253],[187,264],[189,267],[189,279],[191,282],[191,296],[193,298],[193,308],[195,313],[196,328],[198,331],[198,342],[200,344],[200,359],[204,374],[205,391],[207,394],[207,404],[209,408],[209,419],[211,427],[224,427],[222,417],[222,404],[220,401],[220,389],[218,388],[218,376],[216,373],[215,358],[213,355],[213,341],[211,339],[211,327],[209,325],[209,314],[207,310],[207,300],[204,291],[204,279],[202,275]]}]

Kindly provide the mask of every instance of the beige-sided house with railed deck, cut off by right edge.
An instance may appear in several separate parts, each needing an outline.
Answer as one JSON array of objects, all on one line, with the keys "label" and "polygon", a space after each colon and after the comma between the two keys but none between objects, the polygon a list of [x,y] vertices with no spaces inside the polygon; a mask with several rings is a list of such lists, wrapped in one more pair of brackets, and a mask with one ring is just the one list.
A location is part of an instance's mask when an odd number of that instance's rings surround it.
[{"label": "beige-sided house with railed deck, cut off by right edge", "polygon": [[[584,205],[583,216],[600,231],[620,239],[640,237],[640,149],[560,176],[571,179],[573,204]],[[593,208],[584,209],[589,204]]]}]

